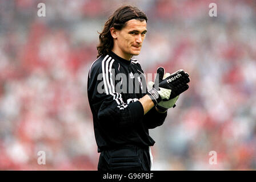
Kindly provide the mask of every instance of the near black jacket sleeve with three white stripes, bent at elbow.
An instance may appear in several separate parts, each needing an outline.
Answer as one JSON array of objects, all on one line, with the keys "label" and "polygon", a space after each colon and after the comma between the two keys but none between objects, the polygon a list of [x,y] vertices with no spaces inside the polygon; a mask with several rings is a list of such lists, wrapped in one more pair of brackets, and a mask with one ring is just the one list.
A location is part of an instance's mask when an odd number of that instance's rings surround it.
[{"label": "near black jacket sleeve with three white stripes, bent at elbow", "polygon": [[[123,102],[122,94],[115,92],[117,81],[112,79],[114,75],[111,71],[114,65],[110,63],[107,66],[102,64],[98,69],[91,69],[88,79],[90,105],[99,124],[123,129],[133,126],[136,122],[142,122],[144,110],[141,102]],[[99,74],[102,76],[98,76]]]}]

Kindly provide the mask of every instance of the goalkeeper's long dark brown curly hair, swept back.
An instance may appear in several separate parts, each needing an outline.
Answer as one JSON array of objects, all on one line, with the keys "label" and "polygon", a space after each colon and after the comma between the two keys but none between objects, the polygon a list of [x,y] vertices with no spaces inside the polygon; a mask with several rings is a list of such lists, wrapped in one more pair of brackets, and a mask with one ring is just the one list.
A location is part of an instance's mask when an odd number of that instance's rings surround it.
[{"label": "goalkeeper's long dark brown curly hair, swept back", "polygon": [[98,56],[107,55],[114,46],[114,40],[110,33],[110,28],[114,27],[121,30],[125,27],[127,21],[131,19],[146,20],[147,16],[135,6],[126,5],[121,6],[115,10],[114,14],[106,21],[103,31],[99,33],[99,44],[97,46]]}]

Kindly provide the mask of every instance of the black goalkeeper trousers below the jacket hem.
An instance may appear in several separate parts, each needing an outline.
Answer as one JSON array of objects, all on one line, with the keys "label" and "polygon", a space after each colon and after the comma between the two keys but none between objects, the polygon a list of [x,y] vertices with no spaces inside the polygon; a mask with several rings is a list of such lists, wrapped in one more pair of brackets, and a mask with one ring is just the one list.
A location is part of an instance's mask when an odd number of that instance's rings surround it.
[{"label": "black goalkeeper trousers below the jacket hem", "polygon": [[103,150],[98,171],[150,171],[150,166],[149,147],[127,145]]}]

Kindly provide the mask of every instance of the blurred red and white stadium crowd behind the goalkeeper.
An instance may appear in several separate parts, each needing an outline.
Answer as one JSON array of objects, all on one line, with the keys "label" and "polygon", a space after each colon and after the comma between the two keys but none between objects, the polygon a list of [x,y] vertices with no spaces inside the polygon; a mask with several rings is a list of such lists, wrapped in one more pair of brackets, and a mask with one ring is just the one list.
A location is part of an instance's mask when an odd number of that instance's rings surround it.
[{"label": "blurred red and white stadium crowd behind the goalkeeper", "polygon": [[191,77],[163,126],[150,130],[154,169],[256,169],[253,0],[0,1],[0,169],[97,170],[87,74],[97,31],[129,2],[149,18],[137,56],[144,71],[162,65]]}]

